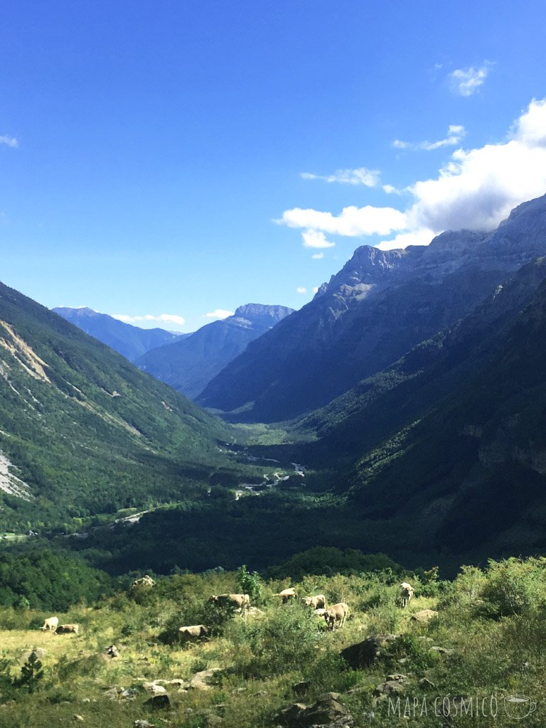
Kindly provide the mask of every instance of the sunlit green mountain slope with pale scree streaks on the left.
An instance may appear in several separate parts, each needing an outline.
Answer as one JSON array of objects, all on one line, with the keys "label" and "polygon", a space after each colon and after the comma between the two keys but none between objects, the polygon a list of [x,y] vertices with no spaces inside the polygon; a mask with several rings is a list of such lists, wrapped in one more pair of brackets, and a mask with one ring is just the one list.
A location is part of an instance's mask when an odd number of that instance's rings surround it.
[{"label": "sunlit green mountain slope with pale scree streaks on the left", "polygon": [[216,446],[226,436],[178,392],[0,284],[0,528],[181,499],[228,466]]}]

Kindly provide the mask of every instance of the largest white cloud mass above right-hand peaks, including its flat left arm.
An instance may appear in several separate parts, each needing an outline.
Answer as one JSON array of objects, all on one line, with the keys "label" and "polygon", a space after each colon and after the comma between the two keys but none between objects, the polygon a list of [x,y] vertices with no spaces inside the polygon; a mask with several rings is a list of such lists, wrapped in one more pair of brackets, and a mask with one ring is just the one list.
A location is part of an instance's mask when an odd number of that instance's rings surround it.
[{"label": "largest white cloud mass above right-hand peaks, including its flat left arm", "polygon": [[384,250],[427,245],[448,229],[494,229],[513,207],[546,193],[546,99],[531,100],[504,140],[456,149],[435,178],[416,181],[403,192],[411,197],[405,210],[368,205],[333,215],[295,207],[277,222],[314,239],[394,233],[392,240],[381,241]]}]

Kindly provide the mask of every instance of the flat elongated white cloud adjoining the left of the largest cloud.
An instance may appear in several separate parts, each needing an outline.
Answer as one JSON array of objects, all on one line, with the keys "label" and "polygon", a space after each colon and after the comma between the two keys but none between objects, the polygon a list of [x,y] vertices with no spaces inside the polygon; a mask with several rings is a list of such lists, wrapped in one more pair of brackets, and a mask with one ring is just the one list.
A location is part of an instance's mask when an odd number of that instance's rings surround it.
[{"label": "flat elongated white cloud adjoining the left of the largest cloud", "polygon": [[[285,210],[277,222],[292,228],[306,228],[307,231],[321,230],[347,237],[359,237],[374,233],[388,235],[393,230],[401,230],[405,228],[405,214],[395,210],[394,207],[371,207],[371,205],[344,207],[339,215],[294,207],[292,210]],[[331,245],[306,247],[324,248]]]}]

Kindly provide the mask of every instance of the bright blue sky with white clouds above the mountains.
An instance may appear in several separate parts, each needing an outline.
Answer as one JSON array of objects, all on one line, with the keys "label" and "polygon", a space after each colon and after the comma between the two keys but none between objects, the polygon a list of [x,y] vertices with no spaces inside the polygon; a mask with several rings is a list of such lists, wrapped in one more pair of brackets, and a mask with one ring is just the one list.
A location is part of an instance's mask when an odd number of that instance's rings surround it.
[{"label": "bright blue sky with white clouds above the mountains", "polygon": [[492,227],[546,192],[545,21],[538,0],[5,4],[0,280],[191,331],[298,308],[358,245]]}]

